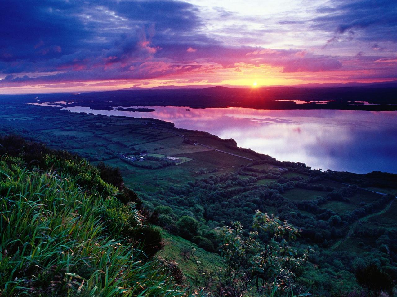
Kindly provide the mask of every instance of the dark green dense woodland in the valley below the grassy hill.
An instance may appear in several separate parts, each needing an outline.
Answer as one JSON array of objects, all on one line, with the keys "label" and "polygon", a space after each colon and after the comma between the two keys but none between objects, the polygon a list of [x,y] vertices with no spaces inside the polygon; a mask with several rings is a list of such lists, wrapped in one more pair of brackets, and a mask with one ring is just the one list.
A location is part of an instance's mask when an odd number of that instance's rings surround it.
[{"label": "dark green dense woodland in the valley below the grassy hill", "polygon": [[[372,203],[362,203],[361,208],[340,215],[327,209],[324,204],[349,201],[357,192],[357,188],[324,186],[321,184],[322,177],[294,181],[274,173],[265,175],[272,178],[268,185],[257,185],[257,177],[248,172],[241,169],[238,172],[240,175],[229,173],[217,177],[210,176],[181,187],[171,186],[151,196],[140,196],[150,201],[145,202],[146,208],[159,214],[160,226],[208,251],[215,251],[219,244],[214,228],[238,220],[245,230],[251,230],[251,214],[256,209],[274,213],[280,219],[288,221],[301,230],[297,248],[310,246],[316,251],[309,256],[309,261],[314,266],[306,265],[300,270],[299,285],[303,286],[304,290],[315,289],[326,293],[334,291],[335,287],[353,288],[355,270],[364,263],[374,261],[394,277],[397,275],[396,230],[362,226],[356,234],[359,238],[358,246],[362,251],[357,253],[329,249],[343,240],[351,223],[383,209],[394,200],[392,195],[379,196],[378,200]],[[242,173],[251,176],[246,177],[247,175]],[[312,185],[312,181],[318,181],[319,184]],[[283,197],[283,193],[294,187],[321,190],[326,194],[311,200],[291,202]],[[318,273],[319,270],[325,273]],[[341,273],[345,274],[351,283],[346,282],[341,286],[338,280]]]}]

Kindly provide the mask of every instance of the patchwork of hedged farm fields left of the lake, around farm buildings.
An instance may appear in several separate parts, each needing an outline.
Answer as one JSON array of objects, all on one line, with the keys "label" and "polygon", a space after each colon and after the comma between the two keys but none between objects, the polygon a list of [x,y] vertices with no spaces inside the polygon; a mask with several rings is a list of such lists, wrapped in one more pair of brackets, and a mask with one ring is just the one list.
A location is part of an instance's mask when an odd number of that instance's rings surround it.
[{"label": "patchwork of hedged farm fields left of the lake, around farm buildings", "polygon": [[[18,133],[27,139],[47,143],[52,148],[75,152],[94,163],[103,161],[119,167],[127,185],[133,188],[139,186],[147,191],[156,191],[210,174],[236,171],[240,165],[249,163],[249,160],[208,147],[183,143],[179,133],[193,135],[208,145],[230,150],[217,137],[203,137],[197,131],[179,131],[173,129],[171,123],[90,114],[67,116],[69,114],[56,107],[5,106],[0,110],[0,116],[4,118],[2,132]],[[131,166],[120,158],[120,155],[132,154],[136,150],[160,159],[175,157],[179,160],[176,166],[146,169]],[[244,152],[241,154],[249,156]],[[145,162],[142,166],[153,165],[156,161]],[[201,168],[206,173],[199,174]],[[155,175],[161,178],[153,180]]]}]

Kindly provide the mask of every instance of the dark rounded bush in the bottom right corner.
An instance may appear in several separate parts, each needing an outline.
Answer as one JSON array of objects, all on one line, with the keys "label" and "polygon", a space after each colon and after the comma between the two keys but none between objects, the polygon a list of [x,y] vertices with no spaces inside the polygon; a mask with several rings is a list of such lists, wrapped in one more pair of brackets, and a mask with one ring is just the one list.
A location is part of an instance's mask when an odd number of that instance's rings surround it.
[{"label": "dark rounded bush in the bottom right corner", "polygon": [[391,293],[394,287],[393,280],[389,274],[382,271],[375,264],[358,268],[356,270],[356,279],[369,297],[378,297],[382,291]]}]

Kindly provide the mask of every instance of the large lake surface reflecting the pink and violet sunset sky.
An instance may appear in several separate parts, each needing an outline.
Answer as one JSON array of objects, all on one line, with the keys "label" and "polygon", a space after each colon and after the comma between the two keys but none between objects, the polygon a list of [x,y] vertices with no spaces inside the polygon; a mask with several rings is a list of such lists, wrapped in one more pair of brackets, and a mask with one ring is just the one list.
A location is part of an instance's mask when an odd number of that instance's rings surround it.
[{"label": "large lake surface reflecting the pink and violet sunset sky", "polygon": [[397,173],[397,112],[153,108],[156,111],[67,109],[158,118],[173,122],[177,128],[233,138],[239,147],[251,148],[282,161],[304,162],[312,168]]}]

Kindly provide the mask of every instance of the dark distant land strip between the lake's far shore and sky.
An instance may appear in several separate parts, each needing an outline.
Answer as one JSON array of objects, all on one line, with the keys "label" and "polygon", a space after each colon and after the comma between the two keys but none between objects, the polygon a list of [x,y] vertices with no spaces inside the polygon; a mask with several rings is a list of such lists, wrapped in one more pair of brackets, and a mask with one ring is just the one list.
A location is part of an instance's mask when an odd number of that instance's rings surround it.
[{"label": "dark distant land strip between the lake's far shore and sky", "polygon": [[[58,102],[59,106],[83,106],[112,110],[112,107],[183,106],[246,107],[253,109],[344,109],[397,110],[397,87],[264,87],[204,89],[133,89],[91,93],[2,95],[20,102]],[[79,102],[77,102],[79,101]],[[301,101],[298,104],[294,101]]]}]

